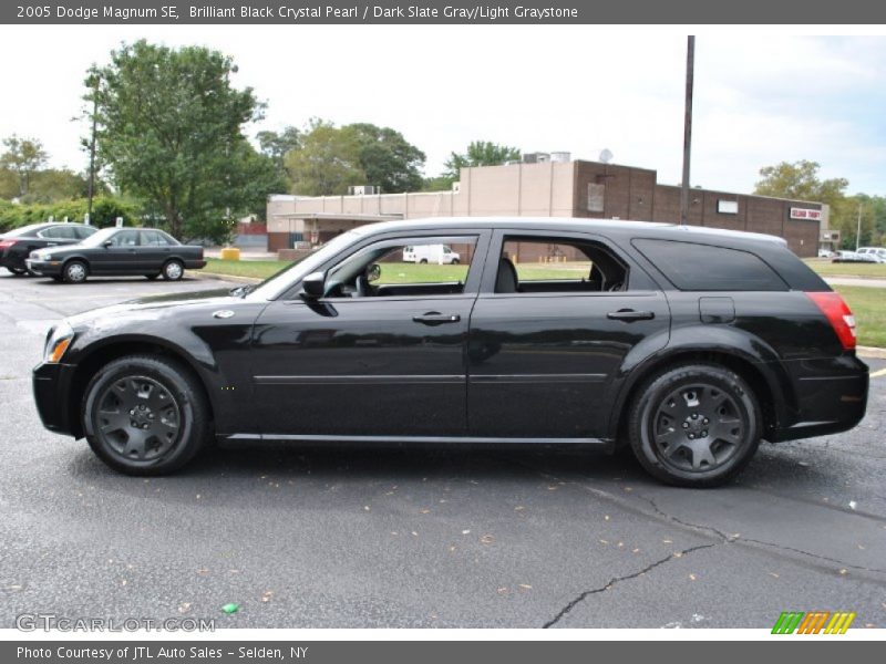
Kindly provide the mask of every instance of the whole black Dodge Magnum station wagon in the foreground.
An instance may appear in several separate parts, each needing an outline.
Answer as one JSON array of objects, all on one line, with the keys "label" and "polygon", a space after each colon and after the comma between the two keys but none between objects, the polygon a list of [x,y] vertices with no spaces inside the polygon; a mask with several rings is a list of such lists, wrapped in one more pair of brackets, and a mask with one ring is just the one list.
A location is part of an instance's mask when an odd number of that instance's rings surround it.
[{"label": "whole black Dodge Magnum station wagon in the foreground", "polygon": [[[456,264],[404,262],[445,245]],[[210,439],[630,445],[722,484],[760,444],[843,432],[868,370],[841,297],[769,236],[589,219],[363,226],[257,287],[50,330],[43,424],[132,475]]]}]

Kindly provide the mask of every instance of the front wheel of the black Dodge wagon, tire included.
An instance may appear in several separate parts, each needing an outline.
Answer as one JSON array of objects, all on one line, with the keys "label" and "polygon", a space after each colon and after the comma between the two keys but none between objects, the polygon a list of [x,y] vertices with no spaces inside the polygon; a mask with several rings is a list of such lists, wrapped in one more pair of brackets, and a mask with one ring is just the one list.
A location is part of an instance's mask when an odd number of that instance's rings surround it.
[{"label": "front wheel of the black Dodge wagon, tire included", "polygon": [[203,386],[165,357],[130,355],[110,362],[90,381],[82,406],[90,447],[125,475],[173,473],[210,435]]}]

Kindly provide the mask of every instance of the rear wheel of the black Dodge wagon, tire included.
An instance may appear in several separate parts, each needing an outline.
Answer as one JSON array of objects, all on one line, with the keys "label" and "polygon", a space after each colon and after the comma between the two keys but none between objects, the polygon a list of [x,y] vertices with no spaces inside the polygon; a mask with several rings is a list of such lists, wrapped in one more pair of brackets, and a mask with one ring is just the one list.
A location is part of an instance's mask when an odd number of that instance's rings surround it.
[{"label": "rear wheel of the black Dodge wagon, tire included", "polygon": [[714,487],[760,446],[763,417],[750,385],[715,364],[673,366],[641,385],[628,412],[633,455],[653,477]]}]

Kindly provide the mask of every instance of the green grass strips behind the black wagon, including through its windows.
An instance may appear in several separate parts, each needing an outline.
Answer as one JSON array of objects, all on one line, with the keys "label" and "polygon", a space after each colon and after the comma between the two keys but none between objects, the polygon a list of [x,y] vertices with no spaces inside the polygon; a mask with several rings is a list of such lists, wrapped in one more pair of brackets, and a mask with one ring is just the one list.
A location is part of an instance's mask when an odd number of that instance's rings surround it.
[{"label": "green grass strips behind the black wagon, including through its windows", "polygon": [[[841,268],[848,272],[834,274],[869,276],[886,278],[886,264],[830,263],[827,261],[807,261],[816,269]],[[254,277],[265,279],[287,267],[285,260],[219,260],[208,259],[205,272],[233,274],[236,277]],[[589,263],[521,263],[517,272],[521,280],[540,279],[577,279],[588,273]],[[382,277],[377,283],[421,283],[441,281],[463,281],[467,266],[437,266],[413,263],[382,263]],[[886,289],[863,286],[835,287],[849,304],[858,325],[858,343],[861,345],[886,347]]]}]

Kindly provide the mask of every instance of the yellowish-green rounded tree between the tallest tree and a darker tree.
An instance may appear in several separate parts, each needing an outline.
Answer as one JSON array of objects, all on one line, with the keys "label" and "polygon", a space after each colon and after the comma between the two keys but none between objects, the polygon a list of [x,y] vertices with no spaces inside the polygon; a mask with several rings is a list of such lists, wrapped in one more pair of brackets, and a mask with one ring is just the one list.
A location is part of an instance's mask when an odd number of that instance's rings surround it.
[{"label": "yellowish-green rounded tree between the tallest tree and a darker tree", "polygon": [[292,191],[302,196],[346,194],[349,185],[367,181],[360,165],[361,145],[354,132],[311,120],[301,147],[286,157]]}]

